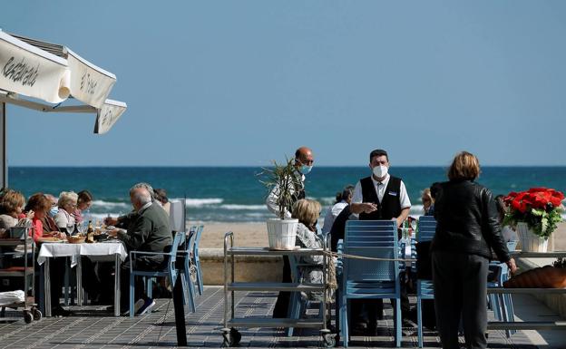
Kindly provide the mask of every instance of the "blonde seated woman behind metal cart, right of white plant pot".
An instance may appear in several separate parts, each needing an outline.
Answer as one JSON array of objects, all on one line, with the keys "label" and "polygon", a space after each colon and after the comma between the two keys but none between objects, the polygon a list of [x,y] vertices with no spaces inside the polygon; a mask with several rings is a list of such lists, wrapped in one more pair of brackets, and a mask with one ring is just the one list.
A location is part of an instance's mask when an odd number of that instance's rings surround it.
[{"label": "blonde seated woman behind metal cart, right of white plant pot", "polygon": [[[317,235],[317,219],[320,215],[320,204],[315,200],[300,199],[295,204],[292,212],[292,218],[298,219],[297,240],[295,245],[304,248],[322,248],[323,240]],[[301,282],[307,284],[322,284],[324,282],[324,274],[322,270],[323,256],[301,256],[298,258],[298,264],[309,265],[300,267]],[[334,258],[333,258],[334,259]],[[335,264],[331,261],[329,268]],[[330,275],[328,276],[330,278]],[[330,284],[336,285],[336,280],[329,280]],[[309,292],[309,299],[322,300],[321,292]]]}]

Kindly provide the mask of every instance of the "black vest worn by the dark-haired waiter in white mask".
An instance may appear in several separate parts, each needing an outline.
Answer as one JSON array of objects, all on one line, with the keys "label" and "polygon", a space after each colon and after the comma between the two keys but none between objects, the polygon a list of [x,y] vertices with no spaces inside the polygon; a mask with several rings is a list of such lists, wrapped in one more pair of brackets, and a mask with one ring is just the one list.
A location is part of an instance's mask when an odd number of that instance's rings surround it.
[{"label": "black vest worn by the dark-haired waiter in white mask", "polygon": [[371,177],[360,179],[362,185],[362,202],[373,202],[377,205],[372,213],[360,213],[360,220],[377,220],[397,218],[401,214],[401,179],[389,176],[387,188],[381,202],[377,199],[376,187]]}]

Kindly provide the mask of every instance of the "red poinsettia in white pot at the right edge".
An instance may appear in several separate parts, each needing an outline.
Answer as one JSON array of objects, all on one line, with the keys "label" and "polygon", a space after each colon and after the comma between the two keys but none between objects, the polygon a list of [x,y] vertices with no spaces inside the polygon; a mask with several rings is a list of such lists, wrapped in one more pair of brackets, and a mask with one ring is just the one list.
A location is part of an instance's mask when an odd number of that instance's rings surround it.
[{"label": "red poinsettia in white pot at the right edge", "polygon": [[532,188],[511,192],[503,201],[509,207],[503,225],[515,227],[523,251],[546,252],[548,238],[561,222],[561,191]]}]

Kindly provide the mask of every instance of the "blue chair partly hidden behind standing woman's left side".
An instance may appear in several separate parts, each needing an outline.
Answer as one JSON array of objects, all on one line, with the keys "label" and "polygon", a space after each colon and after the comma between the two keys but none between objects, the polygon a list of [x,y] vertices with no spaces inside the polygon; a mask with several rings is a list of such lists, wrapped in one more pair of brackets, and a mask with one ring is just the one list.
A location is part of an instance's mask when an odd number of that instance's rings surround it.
[{"label": "blue chair partly hidden behind standing woman's left side", "polygon": [[[416,241],[430,241],[434,238],[435,232],[436,220],[434,217],[421,216],[418,220]],[[414,270],[416,270],[416,268]],[[423,299],[434,299],[433,280],[416,279],[416,332],[419,348],[423,347]]]}]

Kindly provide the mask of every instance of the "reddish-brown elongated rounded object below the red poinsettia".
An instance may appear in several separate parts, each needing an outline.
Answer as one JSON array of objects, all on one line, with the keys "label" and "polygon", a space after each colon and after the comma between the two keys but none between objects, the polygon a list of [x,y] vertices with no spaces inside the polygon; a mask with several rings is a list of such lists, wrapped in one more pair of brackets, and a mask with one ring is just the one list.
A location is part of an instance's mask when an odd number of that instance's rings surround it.
[{"label": "reddish-brown elongated rounded object below the red poinsettia", "polygon": [[537,267],[503,283],[506,288],[565,288],[566,269],[558,267]]}]

